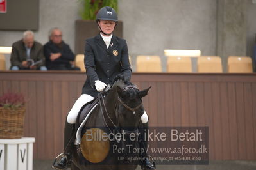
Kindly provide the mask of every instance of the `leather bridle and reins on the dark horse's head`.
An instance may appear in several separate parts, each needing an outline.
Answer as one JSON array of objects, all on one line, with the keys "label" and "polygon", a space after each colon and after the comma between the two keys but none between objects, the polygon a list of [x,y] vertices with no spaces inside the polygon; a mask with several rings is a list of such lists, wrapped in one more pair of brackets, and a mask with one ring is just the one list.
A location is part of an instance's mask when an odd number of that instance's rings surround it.
[{"label": "leather bridle and reins on the dark horse's head", "polygon": [[[128,89],[136,89],[137,91],[139,91],[139,89],[136,87],[136,86],[133,86],[133,85],[130,85],[130,86],[126,86],[125,88],[123,88],[123,91],[127,91]],[[100,106],[100,108],[101,108],[101,113],[102,113],[102,115],[103,115],[103,120],[104,120],[104,122],[105,122],[105,125],[108,127],[108,125],[107,125],[107,122],[106,122],[106,120],[105,120],[105,116],[104,116],[104,114],[103,114],[103,109],[102,109],[102,105],[101,105],[101,100],[102,100],[102,103],[103,103],[103,106],[104,106],[104,110],[105,110],[105,112],[106,112],[106,114],[107,114],[107,116],[108,116],[108,119],[111,121],[111,123],[114,125],[114,127],[115,127],[115,129],[117,130],[117,131],[123,131],[125,134],[131,134],[131,133],[138,133],[139,132],[139,130],[138,130],[138,128],[136,128],[135,130],[125,130],[124,128],[121,128],[121,126],[120,126],[120,123],[119,123],[119,114],[118,114],[118,112],[117,112],[117,108],[115,109],[115,117],[117,118],[117,125],[115,125],[115,123],[112,121],[112,119],[110,118],[110,116],[109,116],[109,114],[108,114],[108,112],[107,112],[107,108],[106,108],[106,106],[105,106],[105,101],[104,101],[104,98],[103,98],[103,96],[102,96],[102,94],[101,93],[98,93],[98,97],[99,97],[99,106]],[[128,109],[128,110],[130,110],[130,111],[133,111],[133,114],[135,114],[135,111],[137,110],[137,109],[139,109],[140,107],[141,107],[141,105],[142,105],[142,101],[141,101],[141,104],[139,104],[139,105],[137,105],[136,107],[129,107],[127,104],[125,104],[122,100],[121,100],[121,98],[120,97],[118,97],[117,98],[118,99],[118,101],[126,108],[126,109]],[[108,129],[110,130],[110,128],[108,127]],[[112,132],[112,130],[110,130],[110,132]]]}]

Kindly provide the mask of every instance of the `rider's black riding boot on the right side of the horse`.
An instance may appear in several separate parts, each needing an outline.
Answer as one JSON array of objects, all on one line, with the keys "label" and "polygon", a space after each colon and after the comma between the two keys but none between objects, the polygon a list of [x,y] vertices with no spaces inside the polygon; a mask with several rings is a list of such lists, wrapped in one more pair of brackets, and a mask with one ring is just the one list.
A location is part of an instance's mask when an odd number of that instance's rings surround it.
[{"label": "rider's black riding boot on the right side of the horse", "polygon": [[141,123],[141,127],[139,127],[139,132],[141,134],[140,148],[144,148],[144,152],[141,153],[141,169],[155,169],[155,162],[151,162],[151,160],[149,160],[149,155],[146,153],[146,150],[148,148],[148,123]]}]

